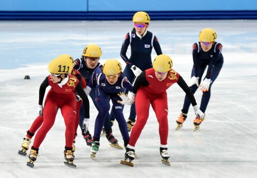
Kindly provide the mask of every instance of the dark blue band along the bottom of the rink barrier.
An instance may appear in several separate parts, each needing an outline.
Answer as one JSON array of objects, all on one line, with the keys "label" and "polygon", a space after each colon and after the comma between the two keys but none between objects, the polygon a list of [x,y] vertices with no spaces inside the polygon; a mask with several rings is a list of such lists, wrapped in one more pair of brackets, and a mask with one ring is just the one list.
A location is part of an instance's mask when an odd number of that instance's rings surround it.
[{"label": "dark blue band along the bottom of the rink barrier", "polygon": [[[152,20],[257,19],[257,10],[247,11],[147,11]],[[132,20],[135,11],[0,11],[0,20]]]}]

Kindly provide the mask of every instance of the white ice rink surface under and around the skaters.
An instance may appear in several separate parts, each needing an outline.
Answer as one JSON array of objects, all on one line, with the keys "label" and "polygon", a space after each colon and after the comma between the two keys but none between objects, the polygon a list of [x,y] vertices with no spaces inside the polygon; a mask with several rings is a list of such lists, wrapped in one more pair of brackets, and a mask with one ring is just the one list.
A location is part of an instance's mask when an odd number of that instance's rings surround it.
[{"label": "white ice rink surface under and around the skaters", "polygon": [[[17,152],[37,116],[39,87],[49,74],[48,63],[64,53],[78,58],[86,45],[97,44],[103,51],[102,64],[109,58],[117,58],[124,67],[120,48],[132,28],[131,21],[0,22],[1,177],[256,177],[255,20],[151,22],[149,31],[158,37],[162,52],[171,56],[173,69],[186,82],[193,65],[192,44],[198,42],[199,31],[215,29],[217,42],[223,45],[224,66],[212,86],[206,120],[198,131],[193,132],[192,107],[183,128],[175,130],[185,93],[177,84],[167,91],[170,167],[161,163],[158,123],[152,108],[136,144],[139,159],[134,161],[134,167],[120,164],[125,150],[110,147],[105,137],[101,137],[97,161],[93,161],[80,134],[74,161],[77,169],[64,166],[65,125],[60,112],[40,147],[34,168],[26,166],[28,154],[21,156]],[[128,56],[129,53],[128,50]],[[24,80],[25,75],[30,80]],[[195,97],[200,105],[200,90]],[[90,98],[89,101],[92,106],[89,131],[93,135],[97,110]],[[125,106],[126,119],[129,111]],[[113,133],[123,145],[117,122]]]}]

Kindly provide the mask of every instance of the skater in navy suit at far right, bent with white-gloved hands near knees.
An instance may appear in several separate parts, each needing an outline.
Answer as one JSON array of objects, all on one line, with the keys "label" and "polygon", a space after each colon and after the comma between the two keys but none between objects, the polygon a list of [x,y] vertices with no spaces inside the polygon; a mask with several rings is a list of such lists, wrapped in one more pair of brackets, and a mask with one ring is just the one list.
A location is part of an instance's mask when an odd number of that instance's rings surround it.
[{"label": "skater in navy suit at far right, bent with white-gloved hands near knees", "polygon": [[[215,42],[216,38],[217,34],[213,29],[205,28],[200,31],[199,42],[193,44],[194,65],[188,86],[193,93],[195,93],[198,87],[201,91],[203,91],[200,110],[204,113],[211,97],[211,86],[221,71],[224,62],[222,55],[222,44]],[[207,73],[203,77],[207,66]],[[201,82],[202,77],[203,81]],[[190,100],[186,95],[181,114],[176,121],[178,125],[176,129],[181,128],[182,123],[186,120],[189,106]],[[196,116],[194,120],[194,131],[199,129],[200,124],[201,120],[198,116]]]}]

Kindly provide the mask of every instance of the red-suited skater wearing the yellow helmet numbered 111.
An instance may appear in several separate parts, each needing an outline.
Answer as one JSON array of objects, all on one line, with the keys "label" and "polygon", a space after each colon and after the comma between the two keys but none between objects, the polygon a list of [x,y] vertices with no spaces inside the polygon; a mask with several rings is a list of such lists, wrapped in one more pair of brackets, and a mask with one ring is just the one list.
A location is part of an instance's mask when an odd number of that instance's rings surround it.
[{"label": "red-suited skater wearing the yellow helmet numbered 111", "polygon": [[72,64],[67,62],[63,57],[52,60],[48,66],[50,75],[46,77],[40,86],[40,106],[43,104],[46,88],[51,86],[51,89],[45,98],[44,108],[39,108],[39,112],[43,113],[43,125],[36,133],[33,146],[30,150],[29,162],[27,163],[30,167],[34,166],[33,163],[37,159],[39,147],[44,141],[47,132],[53,126],[58,109],[61,110],[66,126],[64,157],[68,166],[76,167],[76,165],[73,165],[74,155],[72,154],[72,142],[74,140],[76,121],[75,92],[80,95],[84,103],[85,119],[89,119],[89,101],[78,78],[68,74],[71,70]]}]

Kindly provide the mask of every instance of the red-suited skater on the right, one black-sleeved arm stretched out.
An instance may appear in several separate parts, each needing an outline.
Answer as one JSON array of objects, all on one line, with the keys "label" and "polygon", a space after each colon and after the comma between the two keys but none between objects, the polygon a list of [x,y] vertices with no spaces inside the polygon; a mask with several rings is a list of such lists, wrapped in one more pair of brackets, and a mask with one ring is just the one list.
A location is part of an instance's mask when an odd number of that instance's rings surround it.
[{"label": "red-suited skater on the right, one black-sleeved arm stretched out", "polygon": [[[128,104],[135,101],[137,122],[132,129],[130,142],[127,145],[125,153],[125,161],[121,164],[134,166],[132,160],[135,156],[135,145],[149,117],[150,104],[156,114],[159,123],[160,136],[160,154],[162,163],[170,165],[168,159],[168,98],[166,90],[174,83],[177,83],[190,98],[195,114],[201,119],[204,113],[201,112],[196,104],[195,98],[183,78],[172,69],[172,60],[168,55],[158,55],[154,62],[153,68],[143,71],[136,79]],[[130,162],[126,162],[127,159]]]}]

